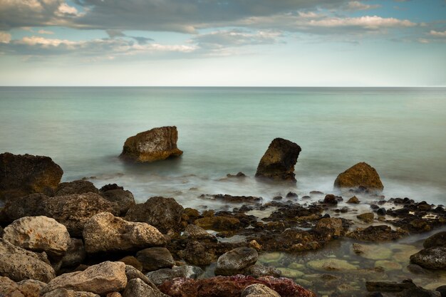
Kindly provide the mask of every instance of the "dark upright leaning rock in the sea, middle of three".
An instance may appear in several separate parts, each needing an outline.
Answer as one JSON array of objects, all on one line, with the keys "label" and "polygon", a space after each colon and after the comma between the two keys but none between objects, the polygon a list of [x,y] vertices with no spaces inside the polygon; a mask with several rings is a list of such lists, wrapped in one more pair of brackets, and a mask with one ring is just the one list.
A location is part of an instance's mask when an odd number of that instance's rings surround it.
[{"label": "dark upright leaning rock in the sea, middle of three", "polygon": [[296,182],[294,165],[299,157],[301,147],[283,138],[274,139],[261,157],[256,177]]}]

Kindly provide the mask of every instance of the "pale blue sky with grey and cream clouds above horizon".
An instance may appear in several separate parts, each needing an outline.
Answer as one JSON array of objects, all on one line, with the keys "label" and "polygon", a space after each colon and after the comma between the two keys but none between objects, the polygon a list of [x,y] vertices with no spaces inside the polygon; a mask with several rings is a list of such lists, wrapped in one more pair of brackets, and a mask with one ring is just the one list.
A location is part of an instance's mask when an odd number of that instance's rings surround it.
[{"label": "pale blue sky with grey and cream clouds above horizon", "polygon": [[0,0],[0,85],[446,86],[446,0]]}]

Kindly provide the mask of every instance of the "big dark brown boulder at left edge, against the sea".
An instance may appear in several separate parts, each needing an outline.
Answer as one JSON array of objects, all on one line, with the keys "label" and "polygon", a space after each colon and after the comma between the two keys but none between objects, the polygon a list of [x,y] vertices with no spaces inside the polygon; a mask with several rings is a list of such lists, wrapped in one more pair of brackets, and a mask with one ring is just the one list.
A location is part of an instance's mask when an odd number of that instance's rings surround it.
[{"label": "big dark brown boulder at left edge, against the sea", "polygon": [[0,154],[0,199],[32,193],[52,195],[62,174],[63,170],[51,157]]}]

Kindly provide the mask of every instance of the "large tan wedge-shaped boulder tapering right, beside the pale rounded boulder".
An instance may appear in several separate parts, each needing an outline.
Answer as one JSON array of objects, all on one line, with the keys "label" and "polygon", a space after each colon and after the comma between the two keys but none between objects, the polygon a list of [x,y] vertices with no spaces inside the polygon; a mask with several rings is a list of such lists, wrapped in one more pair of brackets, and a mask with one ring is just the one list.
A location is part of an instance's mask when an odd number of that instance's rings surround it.
[{"label": "large tan wedge-shaped boulder tapering right, beside the pale rounded boulder", "polygon": [[90,217],[83,228],[85,251],[138,251],[166,243],[165,237],[155,227],[146,223],[127,222],[109,212]]}]

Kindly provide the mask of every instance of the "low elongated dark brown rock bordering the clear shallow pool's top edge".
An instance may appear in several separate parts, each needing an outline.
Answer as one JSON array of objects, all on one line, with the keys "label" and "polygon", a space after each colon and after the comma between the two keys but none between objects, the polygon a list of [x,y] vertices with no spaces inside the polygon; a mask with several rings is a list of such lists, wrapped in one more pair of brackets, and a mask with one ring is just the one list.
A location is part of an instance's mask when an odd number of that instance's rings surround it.
[{"label": "low elongated dark brown rock bordering the clear shallow pool's top edge", "polygon": [[346,236],[362,240],[362,241],[391,241],[400,239],[403,235],[406,235],[404,231],[394,231],[390,226],[368,226],[365,229],[358,228],[355,231],[348,233]]}]

